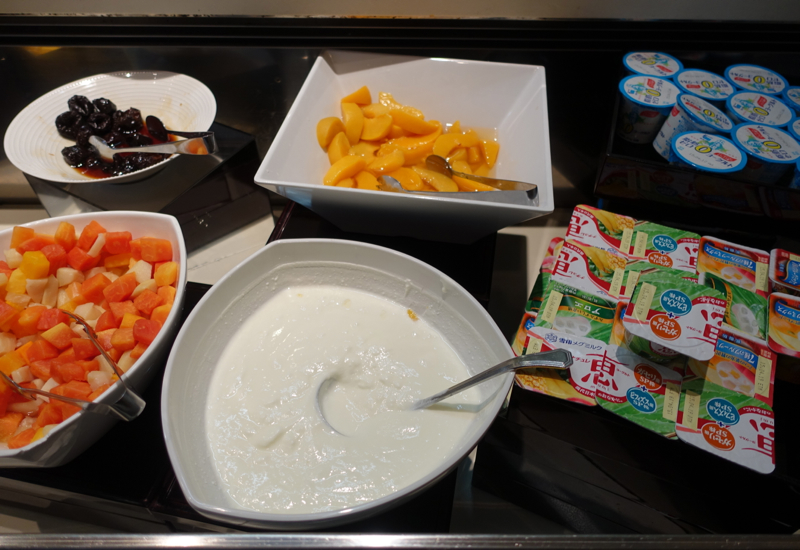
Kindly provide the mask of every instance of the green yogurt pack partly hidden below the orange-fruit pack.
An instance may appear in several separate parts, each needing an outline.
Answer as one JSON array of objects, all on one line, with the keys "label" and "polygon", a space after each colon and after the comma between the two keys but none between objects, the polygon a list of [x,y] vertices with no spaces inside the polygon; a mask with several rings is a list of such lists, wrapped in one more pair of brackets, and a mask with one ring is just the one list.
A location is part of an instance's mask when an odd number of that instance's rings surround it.
[{"label": "green yogurt pack partly hidden below the orange-fruit pack", "polygon": [[769,302],[766,298],[712,273],[701,273],[700,284],[719,290],[725,296],[728,305],[723,323],[760,340],[767,340]]}]

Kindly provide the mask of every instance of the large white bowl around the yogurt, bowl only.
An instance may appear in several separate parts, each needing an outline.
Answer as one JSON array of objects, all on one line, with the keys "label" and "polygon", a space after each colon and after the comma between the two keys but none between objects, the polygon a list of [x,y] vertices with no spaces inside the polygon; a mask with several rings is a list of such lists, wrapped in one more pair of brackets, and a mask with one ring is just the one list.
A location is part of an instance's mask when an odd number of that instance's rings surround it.
[{"label": "large white bowl around the yogurt, bowl only", "polygon": [[322,528],[361,519],[399,504],[440,479],[488,429],[511,386],[511,374],[479,386],[486,406],[460,444],[438,467],[397,492],[352,508],[310,514],[244,509],[224,492],[206,432],[209,380],[242,321],[281,290],[328,284],[357,288],[420,313],[456,351],[471,374],[513,356],[486,310],[431,266],[386,248],[326,239],[273,242],[228,273],[194,308],[175,340],[161,394],[170,461],[186,499],[201,514],[226,523],[268,529]]}]

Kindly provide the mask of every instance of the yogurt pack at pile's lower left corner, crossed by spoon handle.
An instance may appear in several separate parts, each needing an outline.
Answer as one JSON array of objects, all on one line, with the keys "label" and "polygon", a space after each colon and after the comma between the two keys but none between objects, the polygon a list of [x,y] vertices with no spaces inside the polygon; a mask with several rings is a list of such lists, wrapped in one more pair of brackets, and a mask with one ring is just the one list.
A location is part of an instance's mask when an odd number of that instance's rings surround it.
[{"label": "yogurt pack at pile's lower left corner, crossed by spoon handle", "polygon": [[526,369],[517,374],[516,384],[529,391],[565,399],[581,405],[597,405],[597,368],[605,358],[605,344],[542,327],[528,332],[524,353],[566,349],[572,353],[569,369]]}]

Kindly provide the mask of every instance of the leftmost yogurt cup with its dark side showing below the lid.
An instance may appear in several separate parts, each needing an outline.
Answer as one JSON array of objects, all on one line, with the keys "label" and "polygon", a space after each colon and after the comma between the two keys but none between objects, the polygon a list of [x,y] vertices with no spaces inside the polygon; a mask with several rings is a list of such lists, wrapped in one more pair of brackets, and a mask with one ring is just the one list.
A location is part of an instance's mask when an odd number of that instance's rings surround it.
[{"label": "leftmost yogurt cup with its dark side showing below the lid", "polygon": [[617,134],[632,143],[652,143],[680,91],[667,79],[646,75],[623,78],[619,91]]}]

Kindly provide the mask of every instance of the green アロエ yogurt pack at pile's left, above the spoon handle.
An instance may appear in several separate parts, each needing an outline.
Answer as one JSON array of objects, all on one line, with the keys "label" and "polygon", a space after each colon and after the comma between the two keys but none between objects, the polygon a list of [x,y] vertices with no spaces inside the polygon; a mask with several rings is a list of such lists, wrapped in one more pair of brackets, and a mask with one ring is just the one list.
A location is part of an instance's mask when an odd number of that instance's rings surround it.
[{"label": "green \u30a2\u30ed\u30a8 yogurt pack at pile's left, above the spoon handle", "polygon": [[550,281],[534,326],[608,343],[616,300]]}]

